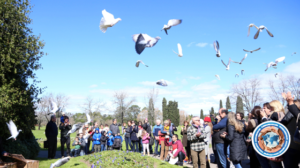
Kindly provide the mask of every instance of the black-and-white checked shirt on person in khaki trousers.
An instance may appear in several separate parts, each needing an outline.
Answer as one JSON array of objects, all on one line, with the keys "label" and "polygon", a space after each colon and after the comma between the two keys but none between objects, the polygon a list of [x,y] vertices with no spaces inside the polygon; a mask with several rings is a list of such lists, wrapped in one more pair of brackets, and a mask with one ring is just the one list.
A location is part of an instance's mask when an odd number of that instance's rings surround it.
[{"label": "black-and-white checked shirt on person in khaki trousers", "polygon": [[203,126],[200,126],[199,128],[199,131],[201,132],[199,137],[196,136],[198,128],[192,125],[187,129],[187,139],[190,141],[191,149],[193,151],[202,151],[205,149],[204,139],[206,138],[206,133]]}]

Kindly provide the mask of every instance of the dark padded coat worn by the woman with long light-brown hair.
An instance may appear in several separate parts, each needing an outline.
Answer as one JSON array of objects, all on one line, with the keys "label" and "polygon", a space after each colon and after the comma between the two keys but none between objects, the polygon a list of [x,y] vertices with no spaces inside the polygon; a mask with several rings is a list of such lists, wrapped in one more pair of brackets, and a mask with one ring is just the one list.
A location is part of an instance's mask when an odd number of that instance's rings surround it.
[{"label": "dark padded coat worn by the woman with long light-brown hair", "polygon": [[232,162],[240,162],[247,159],[247,144],[245,138],[245,126],[241,133],[235,130],[233,125],[227,126],[227,135],[225,139],[230,144],[230,160]]}]

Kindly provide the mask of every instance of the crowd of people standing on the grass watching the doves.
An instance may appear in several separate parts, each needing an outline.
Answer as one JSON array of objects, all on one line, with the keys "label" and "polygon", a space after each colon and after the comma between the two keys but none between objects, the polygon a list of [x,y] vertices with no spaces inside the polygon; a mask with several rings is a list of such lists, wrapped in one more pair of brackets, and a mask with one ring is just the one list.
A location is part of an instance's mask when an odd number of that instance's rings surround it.
[{"label": "crowd of people standing on the grass watching the doves", "polygon": [[[300,144],[296,143],[293,135],[296,131],[297,116],[300,113],[300,101],[294,100],[290,93],[283,93],[287,101],[287,109],[273,100],[264,103],[263,107],[255,106],[245,121],[244,114],[232,112],[231,109],[221,108],[217,116],[206,116],[203,119],[193,117],[184,121],[181,128],[182,139],[175,134],[177,127],[170,119],[156,120],[154,126],[145,119],[136,123],[128,121],[122,124],[121,133],[117,120],[108,125],[84,125],[78,137],[72,143],[75,146],[70,151],[71,129],[69,118],[63,116],[59,129],[61,130],[61,155],[64,157],[64,144],[67,146],[67,156],[81,156],[92,152],[105,150],[121,150],[123,139],[127,151],[139,152],[144,155],[153,154],[171,164],[183,165],[184,160],[193,164],[194,168],[206,168],[209,164],[209,146],[215,156],[214,162],[218,168],[229,168],[230,163],[235,168],[241,168],[241,162],[250,158],[250,168],[298,168],[300,161]],[[211,119],[215,121],[212,122]],[[57,126],[55,116],[47,124],[46,136],[49,142],[48,158],[54,158],[57,147]],[[262,122],[276,121],[286,126],[291,135],[291,144],[287,152],[278,158],[265,158],[252,147],[252,133]],[[122,137],[122,136],[123,137]],[[89,137],[89,138],[86,138]],[[92,150],[89,151],[92,144]],[[124,148],[125,148],[124,147]]]}]

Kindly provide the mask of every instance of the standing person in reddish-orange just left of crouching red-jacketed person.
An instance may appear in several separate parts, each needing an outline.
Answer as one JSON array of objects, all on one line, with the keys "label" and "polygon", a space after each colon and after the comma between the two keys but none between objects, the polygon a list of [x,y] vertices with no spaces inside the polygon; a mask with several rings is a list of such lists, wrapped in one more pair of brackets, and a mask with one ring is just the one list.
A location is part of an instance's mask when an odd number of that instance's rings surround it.
[{"label": "standing person in reddish-orange just left of crouching red-jacketed person", "polygon": [[160,150],[160,160],[165,160],[168,156],[169,152],[169,146],[165,145],[165,138],[169,139],[170,135],[170,124],[169,120],[164,121],[164,127],[160,131],[159,135],[159,140],[160,140],[160,145],[161,145],[161,150]]}]

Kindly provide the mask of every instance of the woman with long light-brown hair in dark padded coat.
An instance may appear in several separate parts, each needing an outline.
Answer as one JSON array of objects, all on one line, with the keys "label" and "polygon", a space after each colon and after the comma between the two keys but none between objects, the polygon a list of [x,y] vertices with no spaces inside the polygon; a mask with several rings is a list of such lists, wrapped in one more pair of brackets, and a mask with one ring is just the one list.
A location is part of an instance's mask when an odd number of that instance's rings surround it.
[{"label": "woman with long light-brown hair in dark padded coat", "polygon": [[233,112],[228,113],[227,132],[223,132],[220,136],[229,142],[230,160],[235,168],[242,168],[241,162],[247,159],[247,145],[244,139],[244,124],[235,118]]}]

